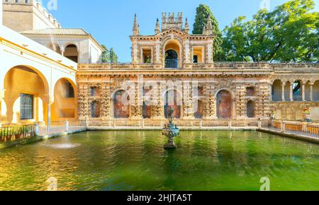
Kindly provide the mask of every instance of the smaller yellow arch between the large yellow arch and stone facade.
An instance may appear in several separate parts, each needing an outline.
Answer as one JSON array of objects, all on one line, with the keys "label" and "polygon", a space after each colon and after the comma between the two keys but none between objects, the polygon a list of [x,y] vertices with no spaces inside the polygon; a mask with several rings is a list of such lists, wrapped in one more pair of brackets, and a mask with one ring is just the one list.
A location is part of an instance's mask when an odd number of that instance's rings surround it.
[{"label": "smaller yellow arch between the large yellow arch and stone facade", "polygon": [[77,118],[77,86],[69,78],[55,83],[51,116],[53,121]]}]

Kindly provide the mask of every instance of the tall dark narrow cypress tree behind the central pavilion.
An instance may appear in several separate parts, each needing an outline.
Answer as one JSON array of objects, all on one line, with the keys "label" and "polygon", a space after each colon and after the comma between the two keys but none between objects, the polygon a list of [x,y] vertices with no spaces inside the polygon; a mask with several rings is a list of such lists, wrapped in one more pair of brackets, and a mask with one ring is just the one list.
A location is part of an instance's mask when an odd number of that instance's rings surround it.
[{"label": "tall dark narrow cypress tree behind the central pavilion", "polygon": [[218,27],[218,21],[216,20],[211,8],[205,4],[199,4],[196,8],[196,18],[193,28],[193,34],[202,34],[203,26],[207,23],[208,16],[211,16],[211,23],[213,25],[213,34],[216,35],[216,39],[213,42],[213,52],[215,60],[223,59],[223,52],[221,46],[223,44],[223,35]]}]

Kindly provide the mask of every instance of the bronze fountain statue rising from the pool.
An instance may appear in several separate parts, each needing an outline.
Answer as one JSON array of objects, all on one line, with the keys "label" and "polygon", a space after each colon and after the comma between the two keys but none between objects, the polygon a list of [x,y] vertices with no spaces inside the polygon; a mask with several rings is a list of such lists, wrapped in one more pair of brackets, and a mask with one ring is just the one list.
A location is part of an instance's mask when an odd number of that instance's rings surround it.
[{"label": "bronze fountain statue rising from the pool", "polygon": [[169,124],[165,124],[163,128],[162,135],[168,137],[167,144],[164,145],[165,149],[174,149],[177,146],[174,143],[174,137],[179,135],[179,128],[173,123],[173,107],[169,107],[167,110],[167,117],[169,119]]}]

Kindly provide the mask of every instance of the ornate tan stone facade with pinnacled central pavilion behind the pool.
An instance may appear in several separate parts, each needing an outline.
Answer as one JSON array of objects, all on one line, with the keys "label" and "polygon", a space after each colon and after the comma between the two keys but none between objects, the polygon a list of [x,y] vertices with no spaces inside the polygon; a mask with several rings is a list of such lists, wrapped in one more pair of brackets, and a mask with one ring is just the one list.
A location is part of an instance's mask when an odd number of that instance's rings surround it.
[{"label": "ornate tan stone facade with pinnacled central pavilion behind the pool", "polygon": [[[301,100],[315,100],[318,64],[214,63],[210,21],[202,35],[190,35],[187,22],[183,28],[182,13],[177,18],[163,13],[162,30],[157,21],[155,35],[140,35],[135,16],[130,40],[131,64],[79,64],[79,119],[108,124],[114,119],[113,98],[119,90],[128,93],[124,101],[129,102],[127,119],[132,120],[145,116],[145,106],[150,106],[151,120],[164,119],[167,106],[174,106],[181,120],[269,118],[278,107],[277,91],[284,91],[279,95],[286,98],[286,82],[289,98],[301,92]],[[88,90],[95,87],[101,95],[90,96]],[[145,96],[145,90],[151,94]],[[172,100],[167,100],[169,90],[174,90]],[[92,100],[101,102],[100,117],[90,115]]]}]

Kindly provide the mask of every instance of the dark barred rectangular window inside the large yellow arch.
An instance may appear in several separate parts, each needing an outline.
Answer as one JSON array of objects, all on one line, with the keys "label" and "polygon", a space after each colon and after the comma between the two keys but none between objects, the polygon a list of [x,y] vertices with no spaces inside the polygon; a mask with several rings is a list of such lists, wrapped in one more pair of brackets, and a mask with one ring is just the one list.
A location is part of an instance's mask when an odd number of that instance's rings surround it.
[{"label": "dark barred rectangular window inside the large yellow arch", "polygon": [[20,94],[20,119],[33,119],[33,95]]}]

